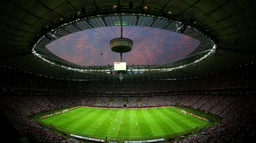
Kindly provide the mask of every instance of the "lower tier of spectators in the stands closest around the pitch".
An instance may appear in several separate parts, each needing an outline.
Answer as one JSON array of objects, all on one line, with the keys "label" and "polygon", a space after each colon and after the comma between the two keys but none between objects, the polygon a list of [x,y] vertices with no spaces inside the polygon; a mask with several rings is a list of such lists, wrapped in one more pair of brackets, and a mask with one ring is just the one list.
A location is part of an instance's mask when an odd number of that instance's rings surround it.
[{"label": "lower tier of spectators in the stands closest around the pitch", "polygon": [[[192,94],[193,95],[193,94]],[[152,107],[152,106],[158,106],[158,105],[168,105],[166,99],[168,101],[171,101],[169,103],[174,103],[175,101],[180,101],[184,106],[187,107],[200,107],[202,103],[207,103],[215,104],[213,108],[208,108],[209,110],[207,111],[214,111],[215,113],[218,113],[220,115],[224,116],[224,120],[214,126],[213,128],[207,129],[201,134],[198,134],[196,136],[189,137],[188,139],[184,139],[179,142],[187,142],[187,141],[205,141],[208,142],[209,139],[213,139],[215,137],[230,137],[230,135],[235,135],[238,133],[238,131],[241,129],[239,125],[243,124],[243,120],[241,120],[238,116],[242,116],[242,118],[246,116],[251,116],[255,112],[255,108],[251,108],[253,104],[255,104],[255,98],[248,96],[248,95],[237,95],[237,96],[231,96],[231,95],[169,95],[169,96],[144,96],[144,97],[130,97],[128,98],[128,107],[139,107],[139,103],[141,104],[141,107]],[[192,96],[192,98],[191,98]],[[29,137],[35,136],[35,139],[39,141],[44,141],[47,139],[53,140],[53,141],[58,141],[58,140],[65,140],[62,136],[59,136],[55,133],[52,133],[44,128],[42,128],[40,125],[37,123],[31,121],[28,119],[25,115],[22,115],[20,112],[18,114],[16,113],[17,110],[21,110],[22,112],[26,113],[27,106],[24,106],[23,104],[26,105],[31,105],[33,104],[37,108],[40,108],[41,110],[46,109],[48,106],[44,106],[46,103],[44,101],[52,101],[52,98],[57,98],[58,96],[6,96],[1,98],[1,103],[3,102],[2,107],[4,111],[8,110],[8,116],[10,117],[10,122],[18,122],[18,125],[14,125],[14,127],[21,133],[21,135],[26,135]],[[22,99],[21,99],[22,98]],[[80,101],[79,103],[85,102],[85,105],[91,105],[94,106],[96,105],[97,100],[98,101],[103,101],[103,103],[109,103],[112,102],[113,104],[111,105],[112,107],[121,107],[122,104],[122,97],[113,97],[113,98],[108,98],[108,97],[97,97],[97,96],[63,96],[62,98],[59,97],[60,99],[57,99],[57,101],[63,103],[63,105],[59,105],[61,103],[58,103],[59,107],[64,107],[67,105],[68,102],[73,102],[74,100],[77,99],[77,101]],[[21,99],[21,100],[20,100]],[[43,100],[47,99],[47,100]],[[189,99],[189,100],[188,100]],[[25,102],[27,100],[27,103]],[[182,101],[186,102],[182,102]],[[43,102],[44,104],[40,103],[39,101]],[[56,101],[52,102],[52,104],[56,104]],[[200,104],[198,103],[200,102]],[[37,104],[39,103],[39,104]],[[99,102],[98,102],[99,103]],[[155,103],[155,104],[154,104]],[[175,104],[175,103],[174,103]],[[23,106],[22,106],[23,105]],[[55,106],[56,107],[56,106]],[[205,106],[202,106],[205,107]],[[211,106],[212,107],[212,106]],[[253,109],[250,113],[250,111],[247,111],[246,108],[249,108],[249,110]],[[30,108],[32,111],[32,107]],[[200,108],[199,108],[200,109]],[[212,109],[212,110],[210,110]],[[11,110],[11,111],[9,111]],[[32,113],[30,111],[30,113]],[[14,113],[15,112],[15,113]],[[231,116],[226,116],[229,115],[230,113]],[[244,113],[243,113],[244,112]],[[5,113],[7,114],[7,113]],[[11,114],[11,115],[9,115]],[[18,117],[16,117],[16,114]],[[8,118],[9,118],[8,117]],[[14,119],[15,118],[15,119]],[[16,121],[18,120],[18,121]],[[238,120],[238,122],[233,121],[233,120]],[[247,120],[247,119],[245,119]],[[22,124],[20,124],[22,122]],[[25,123],[27,122],[27,123]],[[31,125],[30,125],[31,124]],[[234,124],[234,126],[231,126],[229,124]],[[32,131],[22,131],[21,126],[26,125],[28,128],[25,128],[26,130],[31,130],[33,128],[33,131],[37,132],[32,132]],[[29,126],[30,125],[30,126]],[[38,131],[40,130],[40,131]],[[229,132],[230,130],[230,132]],[[222,135],[223,133],[229,133],[230,135]],[[41,135],[43,134],[43,135]],[[47,135],[48,137],[45,137]],[[200,139],[199,139],[200,138]],[[230,138],[228,139],[230,140]],[[214,141],[220,141],[220,140],[214,140]]]}]

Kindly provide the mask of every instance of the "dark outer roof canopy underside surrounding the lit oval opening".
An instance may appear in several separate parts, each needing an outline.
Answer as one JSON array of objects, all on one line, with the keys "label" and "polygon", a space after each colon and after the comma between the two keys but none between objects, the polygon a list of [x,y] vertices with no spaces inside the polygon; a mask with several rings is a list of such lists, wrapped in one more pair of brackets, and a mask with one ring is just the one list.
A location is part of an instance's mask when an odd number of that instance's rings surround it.
[{"label": "dark outer roof canopy underside surrounding the lit oval opening", "polygon": [[[129,2],[133,2],[132,9],[129,8]],[[116,9],[113,8],[114,5],[117,6]],[[108,75],[81,73],[66,70],[61,67],[52,67],[49,63],[43,62],[41,59],[31,54],[34,43],[41,38],[42,35],[52,30],[48,28],[61,26],[58,24],[61,18],[75,19],[75,13],[81,11],[82,7],[85,8],[86,13],[88,12],[95,16],[92,18],[93,21],[87,21],[86,24],[84,24],[87,25],[85,29],[92,28],[92,26],[110,26],[105,17],[108,16],[112,18],[114,16],[109,15],[110,12],[106,11],[112,11],[113,14],[118,11],[124,13],[140,11],[142,14],[146,15],[145,17],[141,17],[142,19],[150,19],[151,17],[148,17],[148,14],[153,15],[154,13],[154,15],[160,16],[168,15],[168,13],[171,12],[170,15],[172,18],[176,17],[177,19],[185,19],[188,22],[190,20],[195,22],[194,27],[207,30],[209,35],[217,41],[216,44],[218,47],[216,54],[197,65],[178,71],[142,74],[139,75],[138,78],[158,79],[207,75],[256,61],[256,15],[254,14],[256,4],[255,1],[252,0],[162,0],[161,2],[155,0],[30,0],[26,2],[22,0],[4,0],[0,3],[0,64],[2,66],[5,65],[6,67],[29,71],[48,77],[67,79],[112,78]],[[144,7],[147,8],[144,9]],[[97,16],[105,13],[107,13],[107,15],[104,15],[103,18]],[[130,25],[134,24],[134,16],[125,15],[125,17]],[[143,23],[142,19],[141,21]],[[63,21],[65,21],[65,19],[63,19]],[[104,24],[94,21],[103,21]],[[161,22],[158,21],[161,21],[161,19],[156,18],[156,21],[155,19],[151,20],[151,24],[153,23],[153,25],[160,26]],[[96,24],[96,26],[94,24]],[[148,25],[150,26],[151,24]],[[169,26],[171,27],[172,24]],[[75,27],[75,25],[70,27]],[[186,29],[185,32],[187,32],[187,30],[188,29]],[[56,59],[58,57],[56,56],[54,58]]]}]

